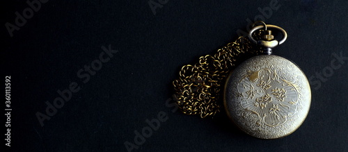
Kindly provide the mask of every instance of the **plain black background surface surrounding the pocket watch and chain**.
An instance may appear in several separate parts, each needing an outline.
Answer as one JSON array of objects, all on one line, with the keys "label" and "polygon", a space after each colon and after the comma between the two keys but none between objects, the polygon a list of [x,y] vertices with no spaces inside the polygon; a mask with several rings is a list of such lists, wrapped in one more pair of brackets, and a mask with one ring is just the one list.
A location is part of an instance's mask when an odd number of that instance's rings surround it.
[{"label": "plain black background surface surrounding the pocket watch and chain", "polygon": [[[223,114],[200,119],[166,106],[180,67],[234,41],[270,1],[161,2],[154,14],[148,1],[48,1],[13,37],[6,22],[29,6],[2,2],[1,84],[11,76],[13,109],[6,151],[127,151],[134,131],[161,111],[168,120],[133,151],[348,151],[348,60],[333,56],[348,57],[347,1],[278,1],[264,18],[289,35],[275,54],[312,78],[306,121],[278,140],[248,136]],[[118,53],[83,83],[77,71],[109,45]],[[40,126],[35,113],[72,82],[81,90]]]}]

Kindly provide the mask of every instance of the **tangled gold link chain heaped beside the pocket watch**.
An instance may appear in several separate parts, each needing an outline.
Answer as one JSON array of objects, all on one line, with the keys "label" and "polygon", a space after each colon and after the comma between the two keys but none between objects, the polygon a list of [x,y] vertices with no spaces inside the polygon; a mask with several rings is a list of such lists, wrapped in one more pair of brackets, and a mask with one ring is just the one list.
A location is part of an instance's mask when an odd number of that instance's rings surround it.
[{"label": "tangled gold link chain heaped beside the pocket watch", "polygon": [[[260,39],[262,30],[254,34]],[[194,65],[184,65],[179,79],[173,81],[176,103],[187,115],[214,116],[220,111],[221,92],[231,69],[245,57],[262,49],[245,37],[227,44],[214,55],[201,56]]]}]

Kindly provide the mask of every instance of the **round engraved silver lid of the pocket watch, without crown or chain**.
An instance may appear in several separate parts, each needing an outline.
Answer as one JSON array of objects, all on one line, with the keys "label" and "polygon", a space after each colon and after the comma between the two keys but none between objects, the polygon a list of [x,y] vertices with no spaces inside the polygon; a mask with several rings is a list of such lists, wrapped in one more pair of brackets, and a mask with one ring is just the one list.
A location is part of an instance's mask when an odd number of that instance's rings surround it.
[{"label": "round engraved silver lid of the pocket watch, without crown or chain", "polygon": [[250,58],[228,77],[224,104],[232,121],[262,139],[290,135],[310,108],[310,85],[293,62],[274,55]]}]

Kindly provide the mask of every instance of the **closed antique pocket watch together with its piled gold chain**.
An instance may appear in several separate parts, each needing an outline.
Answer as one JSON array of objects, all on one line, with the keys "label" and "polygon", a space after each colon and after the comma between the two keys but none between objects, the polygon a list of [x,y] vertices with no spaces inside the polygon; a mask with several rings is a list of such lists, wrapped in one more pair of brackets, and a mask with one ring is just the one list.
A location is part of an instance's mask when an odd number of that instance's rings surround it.
[{"label": "closed antique pocket watch together with its piled gold chain", "polygon": [[[173,81],[182,112],[204,118],[224,107],[241,130],[261,139],[285,137],[301,126],[310,108],[310,85],[294,62],[272,54],[287,39],[286,31],[260,23],[248,33],[249,40],[239,37],[214,55],[182,67],[180,78]],[[270,29],[283,38],[275,40]],[[250,53],[257,56],[236,67],[239,56]]]}]

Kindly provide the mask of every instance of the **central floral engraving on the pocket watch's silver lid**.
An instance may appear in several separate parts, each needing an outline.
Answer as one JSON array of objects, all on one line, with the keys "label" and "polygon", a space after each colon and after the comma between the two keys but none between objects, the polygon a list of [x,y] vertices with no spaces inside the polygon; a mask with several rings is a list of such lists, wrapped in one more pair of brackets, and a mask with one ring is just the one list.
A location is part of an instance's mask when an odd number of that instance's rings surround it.
[{"label": "central floral engraving on the pocket watch's silver lid", "polygon": [[[299,87],[296,82],[279,76],[276,68],[264,68],[242,76],[237,90],[245,112],[258,116],[256,126],[284,124],[297,109]],[[292,79],[293,80],[293,79]]]}]

